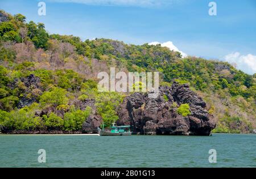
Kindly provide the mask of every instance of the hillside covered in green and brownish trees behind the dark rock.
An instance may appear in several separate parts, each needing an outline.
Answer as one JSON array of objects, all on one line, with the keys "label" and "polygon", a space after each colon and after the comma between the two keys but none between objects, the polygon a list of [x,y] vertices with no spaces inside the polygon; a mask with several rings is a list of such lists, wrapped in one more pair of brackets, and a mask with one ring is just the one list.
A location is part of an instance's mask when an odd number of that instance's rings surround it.
[{"label": "hillside covered in green and brownish trees behind the dark rock", "polygon": [[[181,58],[160,45],[49,34],[44,24],[5,11],[0,11],[0,127],[76,131],[91,113],[117,120],[118,105],[129,93],[97,92],[97,74],[110,67],[159,71],[162,86],[189,83],[218,121],[214,132],[256,129],[256,74],[227,62]],[[90,101],[95,109],[84,108]]]}]

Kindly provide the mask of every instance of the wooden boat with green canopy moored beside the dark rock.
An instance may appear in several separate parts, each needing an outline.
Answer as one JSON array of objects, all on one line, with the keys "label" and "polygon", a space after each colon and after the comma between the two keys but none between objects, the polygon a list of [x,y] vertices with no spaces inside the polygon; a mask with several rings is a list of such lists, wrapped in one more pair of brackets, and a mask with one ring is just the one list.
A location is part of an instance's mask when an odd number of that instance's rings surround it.
[{"label": "wooden boat with green canopy moored beside the dark rock", "polygon": [[127,135],[131,135],[131,131],[130,131],[130,126],[115,126],[113,124],[113,126],[111,126],[110,131],[108,130],[104,130],[104,125],[103,129],[100,129],[100,127],[98,127],[98,134],[100,136],[127,136]]}]

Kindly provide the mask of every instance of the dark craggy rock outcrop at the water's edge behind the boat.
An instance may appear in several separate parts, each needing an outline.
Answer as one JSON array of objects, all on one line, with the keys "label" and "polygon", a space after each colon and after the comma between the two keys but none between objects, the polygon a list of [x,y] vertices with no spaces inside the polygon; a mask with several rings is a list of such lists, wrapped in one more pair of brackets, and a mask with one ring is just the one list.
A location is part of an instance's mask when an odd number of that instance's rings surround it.
[{"label": "dark craggy rock outcrop at the water's edge behind the boat", "polygon": [[[191,111],[185,117],[177,113],[184,103],[189,104]],[[209,135],[216,123],[205,106],[204,100],[187,84],[174,82],[171,87],[160,87],[156,99],[140,92],[127,96],[118,110],[117,124],[131,125],[135,134]]]}]

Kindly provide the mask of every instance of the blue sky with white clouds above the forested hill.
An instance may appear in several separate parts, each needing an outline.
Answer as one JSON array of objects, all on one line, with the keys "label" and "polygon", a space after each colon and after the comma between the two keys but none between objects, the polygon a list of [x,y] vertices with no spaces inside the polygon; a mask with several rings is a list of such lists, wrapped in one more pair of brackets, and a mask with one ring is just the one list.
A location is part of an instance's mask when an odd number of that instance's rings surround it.
[{"label": "blue sky with white clouds above the forested hill", "polygon": [[[213,1],[213,0],[211,0]],[[256,73],[256,1],[215,0],[0,0],[0,9],[44,23],[49,33],[82,40],[161,44],[185,56],[220,59]]]}]

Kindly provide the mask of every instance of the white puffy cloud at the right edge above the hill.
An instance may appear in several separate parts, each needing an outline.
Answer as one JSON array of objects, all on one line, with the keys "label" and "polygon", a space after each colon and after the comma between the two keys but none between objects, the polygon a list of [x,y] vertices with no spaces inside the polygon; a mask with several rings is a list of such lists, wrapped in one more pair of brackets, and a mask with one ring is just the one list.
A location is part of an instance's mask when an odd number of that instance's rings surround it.
[{"label": "white puffy cloud at the right edge above the hill", "polygon": [[256,73],[256,56],[247,54],[241,55],[239,52],[230,53],[224,57],[225,61],[236,64],[236,68],[247,74]]}]

